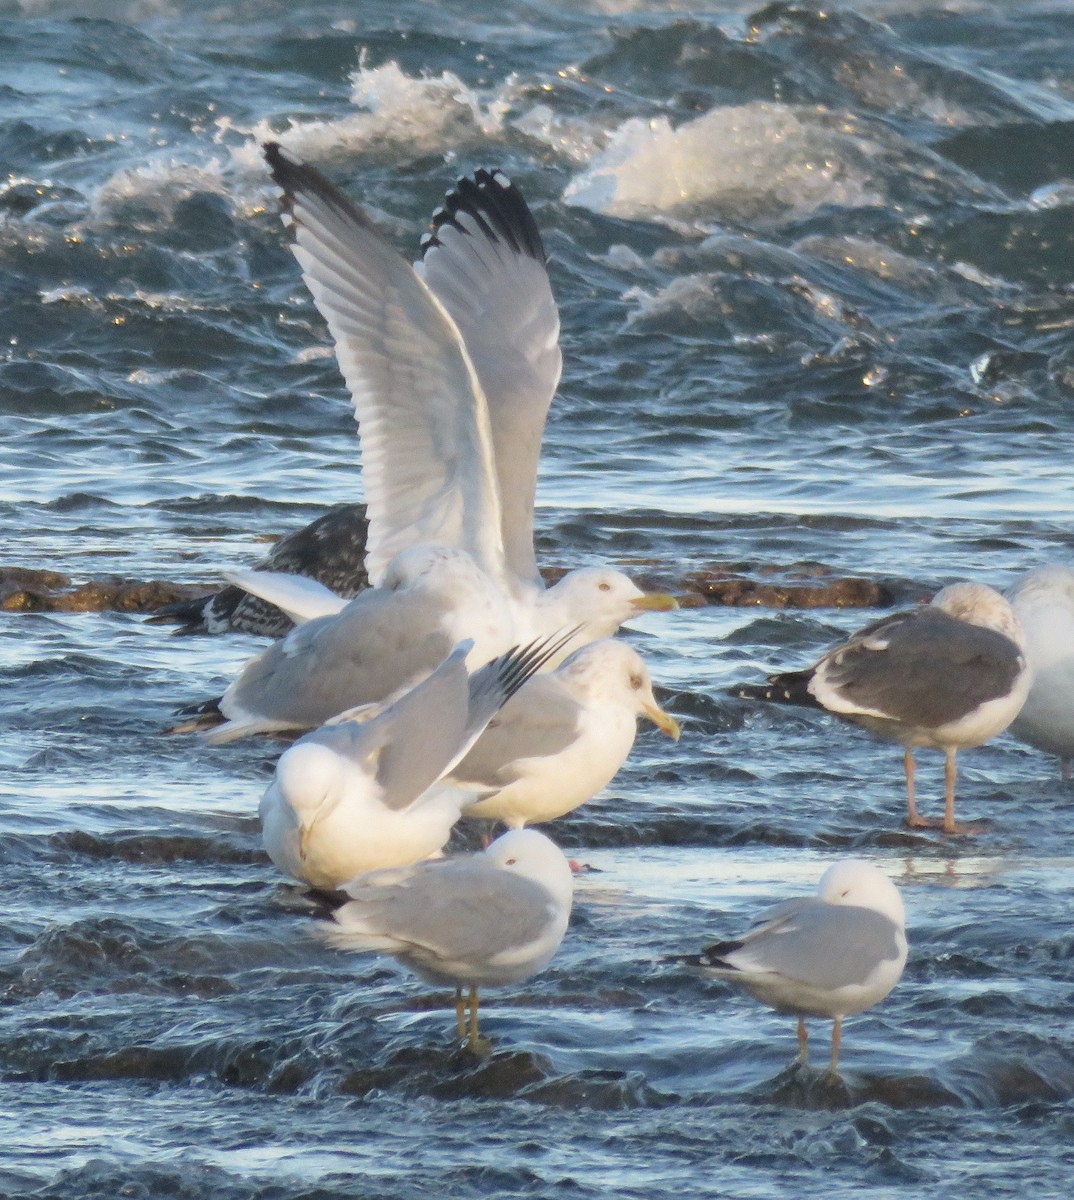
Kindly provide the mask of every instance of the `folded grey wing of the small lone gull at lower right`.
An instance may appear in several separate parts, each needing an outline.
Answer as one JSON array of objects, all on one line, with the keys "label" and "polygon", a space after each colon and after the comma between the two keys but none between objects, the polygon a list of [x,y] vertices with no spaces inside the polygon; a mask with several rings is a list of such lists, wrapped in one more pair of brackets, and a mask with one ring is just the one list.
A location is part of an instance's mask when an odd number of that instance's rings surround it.
[{"label": "folded grey wing of the small lone gull at lower right", "polygon": [[872,908],[803,898],[780,905],[769,919],[722,955],[731,967],[773,972],[816,988],[862,984],[898,959],[899,929]]}]

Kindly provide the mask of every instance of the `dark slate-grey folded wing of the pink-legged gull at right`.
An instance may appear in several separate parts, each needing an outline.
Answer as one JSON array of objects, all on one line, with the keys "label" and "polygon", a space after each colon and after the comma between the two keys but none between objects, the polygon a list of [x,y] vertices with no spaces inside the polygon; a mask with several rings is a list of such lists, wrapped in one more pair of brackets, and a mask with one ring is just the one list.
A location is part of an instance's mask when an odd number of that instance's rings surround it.
[{"label": "dark slate-grey folded wing of the pink-legged gull at right", "polygon": [[1022,665],[1010,638],[924,607],[876,622],[830,650],[814,668],[812,690],[826,703],[830,689],[850,706],[847,715],[857,708],[936,727],[1006,696]]}]

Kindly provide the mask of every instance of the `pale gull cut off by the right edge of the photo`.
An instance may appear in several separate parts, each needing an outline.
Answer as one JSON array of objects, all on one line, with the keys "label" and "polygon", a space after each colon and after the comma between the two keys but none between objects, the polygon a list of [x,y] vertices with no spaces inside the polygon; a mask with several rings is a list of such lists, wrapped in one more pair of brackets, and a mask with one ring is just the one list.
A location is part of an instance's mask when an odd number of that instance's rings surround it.
[{"label": "pale gull cut off by the right edge of the photo", "polygon": [[1067,781],[1074,763],[1074,568],[1040,566],[1007,593],[1026,631],[1033,685],[1010,733],[1060,757]]}]

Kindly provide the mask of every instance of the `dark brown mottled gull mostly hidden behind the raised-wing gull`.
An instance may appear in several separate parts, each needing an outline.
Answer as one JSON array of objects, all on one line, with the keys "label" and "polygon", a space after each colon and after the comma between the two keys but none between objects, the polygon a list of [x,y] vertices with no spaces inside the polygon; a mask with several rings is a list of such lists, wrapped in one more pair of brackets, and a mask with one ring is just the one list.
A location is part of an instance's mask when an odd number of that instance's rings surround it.
[{"label": "dark brown mottled gull mostly hidden behind the raised-wing gull", "polygon": [[[310,524],[282,538],[254,570],[308,578],[349,600],[370,586],[366,575],[366,506],[336,504]],[[228,576],[232,578],[232,576]],[[283,637],[294,622],[274,602],[234,580],[211,595],[163,605],[150,624],[179,624],[176,634],[256,634]]]}]

